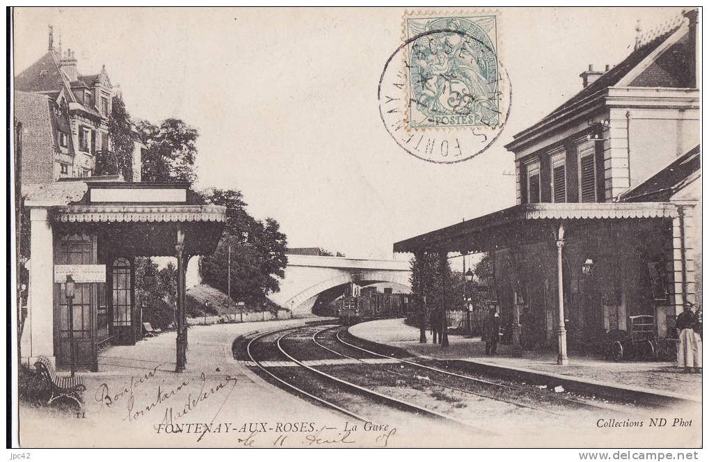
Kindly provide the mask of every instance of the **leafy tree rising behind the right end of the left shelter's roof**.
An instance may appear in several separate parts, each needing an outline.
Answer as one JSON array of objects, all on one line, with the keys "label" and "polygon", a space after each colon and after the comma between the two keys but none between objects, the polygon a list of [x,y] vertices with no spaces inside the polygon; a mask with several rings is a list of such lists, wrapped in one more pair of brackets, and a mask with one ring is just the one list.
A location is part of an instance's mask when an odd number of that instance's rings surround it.
[{"label": "leafy tree rising behind the right end of the left shelter's roof", "polygon": [[163,120],[160,125],[140,120],[137,128],[147,147],[142,159],[143,181],[194,183],[199,137],[196,128],[174,118]]}]

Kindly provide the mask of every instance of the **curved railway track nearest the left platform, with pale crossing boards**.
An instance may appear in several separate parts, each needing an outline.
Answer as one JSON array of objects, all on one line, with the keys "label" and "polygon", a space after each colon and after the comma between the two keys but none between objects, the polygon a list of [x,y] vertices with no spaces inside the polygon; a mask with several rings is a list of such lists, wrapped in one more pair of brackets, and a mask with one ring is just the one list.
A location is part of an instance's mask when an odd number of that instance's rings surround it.
[{"label": "curved railway track nearest the left platform, with pale crossing boards", "polygon": [[[479,434],[493,434],[412,402],[392,398],[372,388],[335,377],[296,359],[293,351],[287,351],[284,347],[284,339],[303,329],[313,329],[313,327],[279,329],[250,339],[245,348],[250,361],[249,366],[261,371],[281,387],[361,422],[377,422],[381,419],[387,421],[398,419],[403,422],[415,415],[431,421],[466,427],[468,431],[472,430]],[[386,406],[386,412],[372,412],[372,409],[378,408],[372,406],[374,404],[379,407]]]}]

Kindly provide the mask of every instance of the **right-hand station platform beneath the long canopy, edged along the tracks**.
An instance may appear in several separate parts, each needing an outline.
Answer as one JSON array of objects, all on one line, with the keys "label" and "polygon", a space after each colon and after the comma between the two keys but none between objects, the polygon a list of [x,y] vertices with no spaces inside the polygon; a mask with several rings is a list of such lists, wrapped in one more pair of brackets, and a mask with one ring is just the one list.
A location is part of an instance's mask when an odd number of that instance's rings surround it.
[{"label": "right-hand station platform beneath the long canopy, edged along the tracks", "polygon": [[684,373],[671,362],[614,362],[569,354],[569,365],[559,366],[554,351],[538,349],[515,353],[510,345],[504,344],[498,344],[496,356],[486,356],[485,344],[480,337],[449,335],[450,346],[443,349],[440,344],[433,344],[430,332],[426,332],[428,342],[419,343],[418,328],[404,324],[403,319],[363,322],[350,327],[350,334],[368,342],[404,349],[415,356],[465,361],[476,370],[523,380],[526,378],[530,383],[558,383],[583,393],[597,391],[599,394],[657,402],[699,402],[702,397],[702,374]]}]

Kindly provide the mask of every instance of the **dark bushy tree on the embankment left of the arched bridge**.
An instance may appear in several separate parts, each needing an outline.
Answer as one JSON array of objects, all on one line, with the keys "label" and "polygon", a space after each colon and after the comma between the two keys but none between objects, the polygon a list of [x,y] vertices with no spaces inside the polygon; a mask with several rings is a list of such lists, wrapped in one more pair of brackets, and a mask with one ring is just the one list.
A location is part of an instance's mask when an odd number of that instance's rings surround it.
[{"label": "dark bushy tree on the embankment left of the arched bridge", "polygon": [[208,204],[226,207],[226,224],[216,251],[201,260],[201,273],[210,286],[227,292],[231,247],[231,297],[262,306],[280,288],[288,264],[286,235],[277,220],[256,220],[245,207],[241,191],[212,188],[199,193]]}]

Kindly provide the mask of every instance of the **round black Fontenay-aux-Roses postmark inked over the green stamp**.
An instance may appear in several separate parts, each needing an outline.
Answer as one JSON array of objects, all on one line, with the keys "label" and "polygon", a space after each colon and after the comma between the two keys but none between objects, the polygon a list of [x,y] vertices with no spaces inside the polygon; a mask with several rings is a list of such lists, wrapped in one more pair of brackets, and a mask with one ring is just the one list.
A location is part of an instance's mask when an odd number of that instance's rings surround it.
[{"label": "round black Fontenay-aux-Roses postmark inked over the green stamp", "polygon": [[437,164],[488,150],[512,102],[509,74],[491,41],[471,26],[452,26],[405,40],[386,60],[377,88],[389,135],[408,154]]}]

